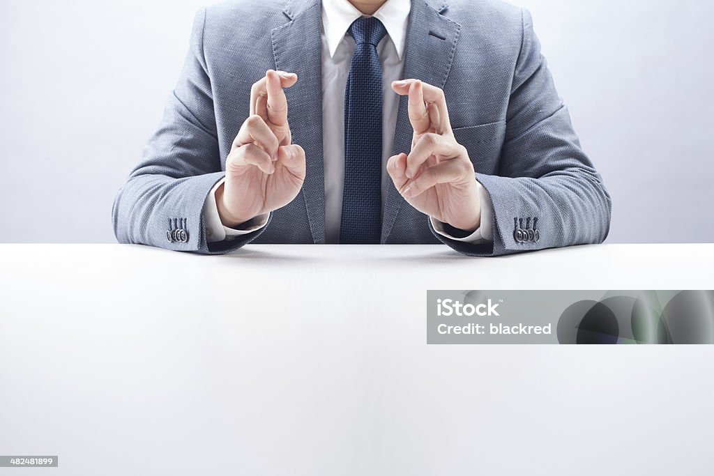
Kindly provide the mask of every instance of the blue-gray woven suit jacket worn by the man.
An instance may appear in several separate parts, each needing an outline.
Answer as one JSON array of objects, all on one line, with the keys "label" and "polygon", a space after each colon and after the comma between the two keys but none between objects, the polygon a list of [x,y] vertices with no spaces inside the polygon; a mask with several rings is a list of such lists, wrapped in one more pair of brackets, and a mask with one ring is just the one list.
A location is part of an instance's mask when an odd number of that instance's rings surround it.
[{"label": "blue-gray woven suit jacket worn by the man", "polygon": [[[325,243],[320,30],[319,0],[231,1],[198,12],[161,126],[114,201],[121,243],[198,253],[251,242]],[[306,151],[306,181],[266,227],[207,243],[201,208],[224,176],[251,85],[267,69],[298,74],[286,94],[293,143]],[[391,181],[381,243],[441,241],[489,256],[605,239],[610,196],[580,148],[528,11],[494,0],[413,0],[403,78],[443,88],[456,139],[493,201],[493,244],[438,235]],[[411,136],[403,97],[393,153],[408,152]]]}]

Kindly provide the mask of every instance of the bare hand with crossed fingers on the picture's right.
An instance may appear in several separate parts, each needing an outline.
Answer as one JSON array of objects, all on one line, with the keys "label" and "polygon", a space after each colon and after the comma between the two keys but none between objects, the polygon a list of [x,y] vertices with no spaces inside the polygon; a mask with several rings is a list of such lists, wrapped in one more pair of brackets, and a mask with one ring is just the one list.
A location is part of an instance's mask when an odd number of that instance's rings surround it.
[{"label": "bare hand with crossed fingers on the picture's right", "polygon": [[414,129],[411,153],[387,163],[401,196],[418,211],[465,231],[481,226],[481,198],[466,148],[456,142],[443,91],[421,81],[394,81],[393,90],[409,96]]}]

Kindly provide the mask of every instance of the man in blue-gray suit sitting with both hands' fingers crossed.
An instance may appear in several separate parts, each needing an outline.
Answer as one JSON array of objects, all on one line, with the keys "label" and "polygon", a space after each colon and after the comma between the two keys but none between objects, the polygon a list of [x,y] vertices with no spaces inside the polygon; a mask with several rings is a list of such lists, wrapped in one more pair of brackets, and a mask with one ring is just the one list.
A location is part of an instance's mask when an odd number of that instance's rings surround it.
[{"label": "man in blue-gray suit sitting with both hands' fingers crossed", "polygon": [[528,11],[239,0],[196,16],[112,215],[121,243],[198,253],[441,242],[493,256],[600,243],[610,207]]}]

